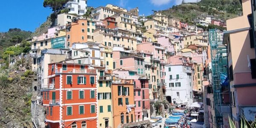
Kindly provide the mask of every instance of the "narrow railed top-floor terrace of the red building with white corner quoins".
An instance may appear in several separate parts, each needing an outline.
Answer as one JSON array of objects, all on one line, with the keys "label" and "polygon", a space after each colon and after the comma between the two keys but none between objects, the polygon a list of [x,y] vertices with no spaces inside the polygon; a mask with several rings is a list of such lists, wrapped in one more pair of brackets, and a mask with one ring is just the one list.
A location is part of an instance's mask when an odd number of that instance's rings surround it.
[{"label": "narrow railed top-floor terrace of the red building with white corner quoins", "polygon": [[67,68],[66,70],[62,70],[62,68],[59,68],[55,71],[55,73],[82,73],[82,74],[96,74],[96,70],[91,69],[73,69],[73,68]]}]

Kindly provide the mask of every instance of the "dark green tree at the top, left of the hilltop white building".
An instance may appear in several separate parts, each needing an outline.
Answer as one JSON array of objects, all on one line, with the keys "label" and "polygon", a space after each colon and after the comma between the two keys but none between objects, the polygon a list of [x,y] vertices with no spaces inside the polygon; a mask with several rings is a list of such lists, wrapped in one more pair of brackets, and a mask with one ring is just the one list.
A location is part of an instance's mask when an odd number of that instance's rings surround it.
[{"label": "dark green tree at the top, left of the hilltop white building", "polygon": [[58,16],[58,11],[64,8],[64,5],[67,3],[67,0],[44,0],[44,7],[51,8],[55,16]]}]

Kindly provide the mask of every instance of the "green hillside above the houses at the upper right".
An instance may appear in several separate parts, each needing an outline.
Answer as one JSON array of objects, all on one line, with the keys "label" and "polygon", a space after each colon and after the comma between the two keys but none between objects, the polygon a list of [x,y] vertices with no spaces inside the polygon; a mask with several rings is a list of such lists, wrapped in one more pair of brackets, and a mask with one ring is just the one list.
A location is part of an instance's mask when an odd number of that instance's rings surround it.
[{"label": "green hillside above the houses at the upper right", "polygon": [[182,3],[161,12],[191,24],[201,14],[213,15],[221,20],[238,17],[242,13],[242,7],[239,0],[201,0],[198,3]]}]

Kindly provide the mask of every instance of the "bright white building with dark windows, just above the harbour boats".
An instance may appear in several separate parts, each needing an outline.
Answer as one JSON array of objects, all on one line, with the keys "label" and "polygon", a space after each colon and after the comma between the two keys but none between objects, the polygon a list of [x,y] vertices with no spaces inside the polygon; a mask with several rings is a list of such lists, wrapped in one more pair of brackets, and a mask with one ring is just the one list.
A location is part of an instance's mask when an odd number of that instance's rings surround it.
[{"label": "bright white building with dark windows, just above the harbour boats", "polygon": [[184,65],[166,65],[166,99],[169,102],[193,102],[192,70]]}]

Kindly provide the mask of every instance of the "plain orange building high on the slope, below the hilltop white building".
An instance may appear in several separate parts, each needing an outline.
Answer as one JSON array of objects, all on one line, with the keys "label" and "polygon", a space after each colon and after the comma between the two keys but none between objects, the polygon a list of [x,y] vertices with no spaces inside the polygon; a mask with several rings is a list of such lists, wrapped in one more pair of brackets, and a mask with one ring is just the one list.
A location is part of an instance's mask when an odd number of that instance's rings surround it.
[{"label": "plain orange building high on the slope, below the hilltop white building", "polygon": [[87,31],[90,32],[87,20],[79,19],[66,26],[67,47],[72,47],[73,43],[87,42]]}]

